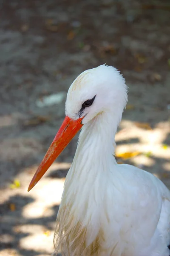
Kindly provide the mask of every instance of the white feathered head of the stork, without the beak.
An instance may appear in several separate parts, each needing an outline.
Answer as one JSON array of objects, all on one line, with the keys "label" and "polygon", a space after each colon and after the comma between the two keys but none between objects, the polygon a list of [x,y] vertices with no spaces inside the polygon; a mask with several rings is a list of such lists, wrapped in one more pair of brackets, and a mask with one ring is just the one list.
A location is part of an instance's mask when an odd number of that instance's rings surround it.
[{"label": "white feathered head of the stork, without the beak", "polygon": [[84,71],[71,84],[65,114],[74,120],[83,117],[85,124],[99,113],[123,111],[126,102],[125,79],[116,68],[101,65]]}]

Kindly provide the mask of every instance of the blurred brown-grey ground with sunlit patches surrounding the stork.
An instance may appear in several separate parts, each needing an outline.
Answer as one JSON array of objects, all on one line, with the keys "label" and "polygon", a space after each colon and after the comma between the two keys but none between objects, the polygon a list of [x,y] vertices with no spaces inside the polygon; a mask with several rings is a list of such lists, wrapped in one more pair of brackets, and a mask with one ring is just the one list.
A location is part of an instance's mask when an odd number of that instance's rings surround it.
[{"label": "blurred brown-grey ground with sunlit patches surrounding the stork", "polygon": [[31,192],[82,71],[107,63],[129,87],[116,159],[170,188],[170,1],[0,1],[0,255],[49,256],[77,137]]}]

